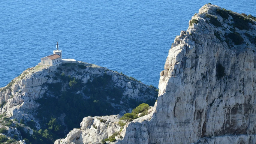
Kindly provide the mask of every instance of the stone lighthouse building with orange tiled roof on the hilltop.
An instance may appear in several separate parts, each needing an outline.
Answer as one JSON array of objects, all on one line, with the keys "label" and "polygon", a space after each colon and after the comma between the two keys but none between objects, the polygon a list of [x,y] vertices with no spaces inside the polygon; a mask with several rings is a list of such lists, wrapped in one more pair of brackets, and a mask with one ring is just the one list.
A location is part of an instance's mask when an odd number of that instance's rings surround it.
[{"label": "stone lighthouse building with orange tiled roof on the hilltop", "polygon": [[62,50],[59,50],[59,44],[57,42],[56,50],[53,51],[53,55],[48,55],[41,58],[41,62],[38,65],[59,66],[62,63],[76,63],[74,59],[62,59]]}]

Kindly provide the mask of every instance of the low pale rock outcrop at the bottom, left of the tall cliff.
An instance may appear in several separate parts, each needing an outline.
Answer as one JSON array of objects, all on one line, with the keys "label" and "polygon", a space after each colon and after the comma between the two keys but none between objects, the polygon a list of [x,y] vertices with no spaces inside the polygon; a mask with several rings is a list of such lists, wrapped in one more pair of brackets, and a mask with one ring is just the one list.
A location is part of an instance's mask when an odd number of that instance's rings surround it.
[{"label": "low pale rock outcrop at the bottom, left of the tall cliff", "polygon": [[54,144],[68,143],[101,143],[101,140],[121,130],[119,115],[85,117],[80,129],[69,132],[65,139],[56,140]]}]

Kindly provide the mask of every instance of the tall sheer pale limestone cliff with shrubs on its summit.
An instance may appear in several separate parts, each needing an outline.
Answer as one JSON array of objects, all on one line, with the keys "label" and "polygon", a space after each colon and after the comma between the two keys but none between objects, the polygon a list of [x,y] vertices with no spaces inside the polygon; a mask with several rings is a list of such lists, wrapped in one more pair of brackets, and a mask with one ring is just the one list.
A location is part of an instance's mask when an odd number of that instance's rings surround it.
[{"label": "tall sheer pale limestone cliff with shrubs on its summit", "polygon": [[250,18],[204,5],[169,50],[155,109],[126,124],[114,143],[256,143],[256,25]]}]

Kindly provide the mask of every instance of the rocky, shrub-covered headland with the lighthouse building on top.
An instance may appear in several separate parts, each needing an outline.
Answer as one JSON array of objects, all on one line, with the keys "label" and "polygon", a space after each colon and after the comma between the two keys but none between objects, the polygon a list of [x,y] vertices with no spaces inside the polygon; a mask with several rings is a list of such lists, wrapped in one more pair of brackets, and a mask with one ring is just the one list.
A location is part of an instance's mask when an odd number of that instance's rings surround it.
[{"label": "rocky, shrub-covered headland with the lighthouse building on top", "polygon": [[157,95],[152,85],[94,64],[37,65],[0,89],[0,133],[53,143],[86,116],[122,116],[141,103],[154,105]]}]

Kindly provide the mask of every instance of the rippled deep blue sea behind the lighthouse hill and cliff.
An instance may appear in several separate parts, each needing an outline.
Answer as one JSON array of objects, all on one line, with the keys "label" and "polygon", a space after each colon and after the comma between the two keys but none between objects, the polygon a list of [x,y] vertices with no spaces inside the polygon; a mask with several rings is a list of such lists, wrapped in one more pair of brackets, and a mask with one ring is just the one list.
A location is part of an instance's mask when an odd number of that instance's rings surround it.
[{"label": "rippled deep blue sea behind the lighthouse hill and cliff", "polygon": [[0,87],[52,54],[57,41],[63,58],[158,87],[175,36],[209,2],[256,16],[255,0],[1,0]]}]

